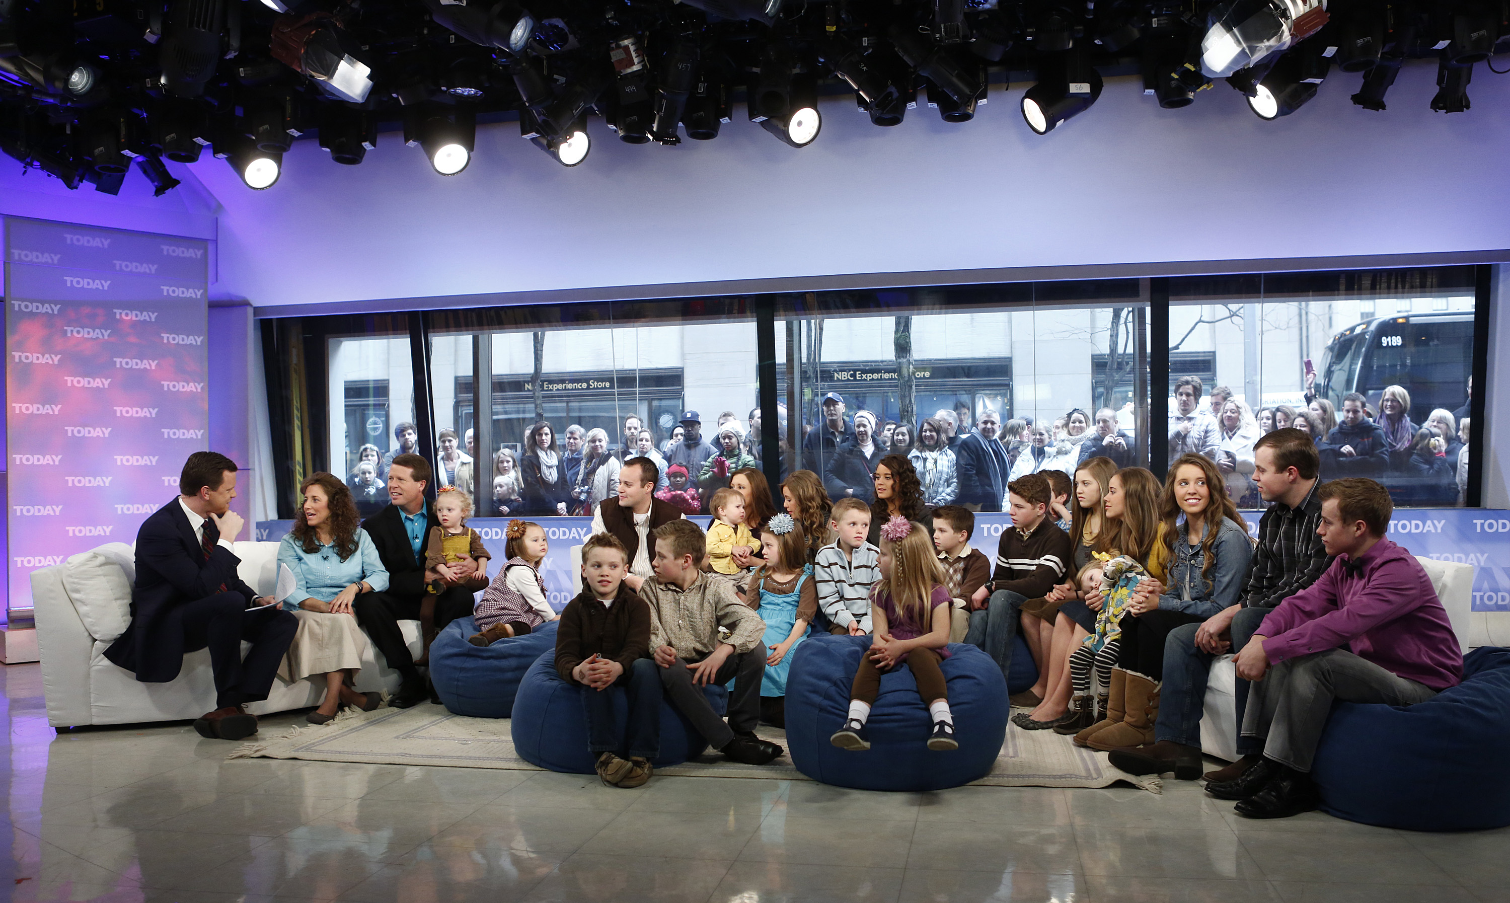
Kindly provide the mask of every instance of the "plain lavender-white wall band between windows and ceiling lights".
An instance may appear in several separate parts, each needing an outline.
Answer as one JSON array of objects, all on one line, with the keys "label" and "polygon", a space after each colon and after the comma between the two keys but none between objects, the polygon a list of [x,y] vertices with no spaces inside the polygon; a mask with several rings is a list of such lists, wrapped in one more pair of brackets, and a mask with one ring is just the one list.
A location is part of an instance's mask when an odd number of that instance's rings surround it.
[{"label": "plain lavender-white wall band between windows and ceiling lights", "polygon": [[189,169],[223,205],[219,294],[258,308],[1510,248],[1510,172],[1493,165],[1510,139],[1510,80],[1483,74],[1475,109],[1442,115],[1428,109],[1433,74],[1407,68],[1385,113],[1353,106],[1356,76],[1338,74],[1273,122],[1222,83],[1161,110],[1140,82],[1114,79],[1042,137],[1013,85],[960,125],[920,107],[877,128],[830,98],[800,151],[735,107],[717,140],[676,148],[624,145],[595,122],[592,156],[574,169],[513,124],[480,128],[471,166],[451,178],[393,133],[361,166],[297,142],[264,192],[208,157]]}]

